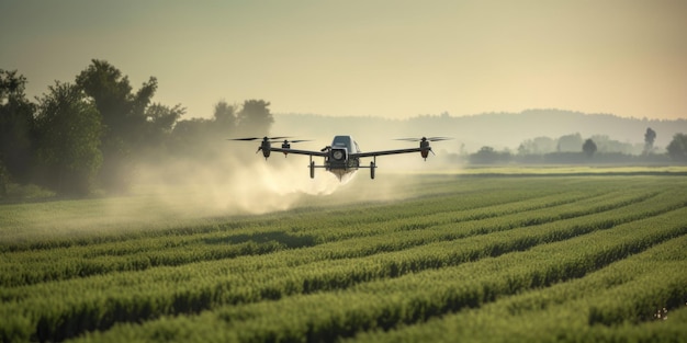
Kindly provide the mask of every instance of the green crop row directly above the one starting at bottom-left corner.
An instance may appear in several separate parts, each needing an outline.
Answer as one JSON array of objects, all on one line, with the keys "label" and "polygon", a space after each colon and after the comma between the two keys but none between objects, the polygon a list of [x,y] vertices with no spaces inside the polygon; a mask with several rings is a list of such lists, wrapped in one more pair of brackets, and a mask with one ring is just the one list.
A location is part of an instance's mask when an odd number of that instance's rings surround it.
[{"label": "green crop row directly above the one starting at bottom-left corner", "polygon": [[[341,227],[290,233],[284,231],[260,232],[251,235],[224,231],[180,236],[172,238],[148,238],[133,242],[122,242],[119,244],[93,244],[90,247],[75,247],[71,249],[53,249],[37,252],[16,252],[7,254],[0,262],[0,285],[19,286],[30,285],[40,282],[68,279],[72,277],[83,277],[89,275],[106,274],[122,271],[142,271],[155,266],[174,266],[187,263],[230,259],[239,255],[255,255],[271,253],[283,249],[294,249],[312,247],[318,242],[336,241],[340,244],[336,247],[350,245],[352,249],[341,253],[341,249],[331,249],[326,245],[327,258],[357,256],[361,253],[376,253],[381,251],[394,251],[408,247],[419,245],[438,239],[458,239],[470,235],[484,233],[496,230],[504,230],[515,227],[542,224],[565,218],[574,218],[595,211],[609,210],[616,207],[628,206],[638,202],[651,202],[655,194],[623,194],[616,193],[597,196],[574,203],[568,203],[566,197],[551,199],[543,197],[532,202],[509,204],[507,208],[500,205],[495,213],[504,215],[498,218],[489,218],[476,221],[480,228],[473,232],[464,230],[453,230],[454,222],[461,222],[463,218],[472,218],[470,214],[442,213],[432,219],[431,216],[424,216],[419,219],[404,222],[403,220],[390,220],[384,224],[368,224],[356,228]],[[660,199],[658,199],[660,201]],[[553,203],[552,203],[553,202]],[[553,206],[553,207],[545,207]],[[671,208],[669,202],[654,202],[649,208],[661,206],[661,209]],[[673,205],[674,206],[674,205]],[[646,210],[646,205],[638,209],[639,213]],[[531,209],[534,208],[534,209]],[[547,211],[541,211],[547,208]],[[634,211],[634,209],[632,209]],[[511,215],[505,215],[511,213]],[[465,219],[468,220],[468,219]],[[474,224],[471,221],[470,224]],[[437,232],[432,227],[443,224],[446,232]],[[446,226],[449,226],[447,228]],[[410,230],[416,227],[415,232],[408,235],[397,235],[395,231]],[[423,229],[423,230],[421,230]],[[417,232],[420,230],[420,232]],[[328,233],[328,232],[335,233]],[[245,232],[239,230],[239,232]],[[330,236],[338,236],[334,240]],[[364,241],[352,240],[344,242],[344,238],[363,237]],[[232,243],[207,244],[209,242]],[[209,247],[210,245],[210,247]],[[369,248],[368,248],[369,247]],[[181,251],[180,248],[182,248]],[[322,249],[316,249],[322,250]],[[352,251],[351,254],[348,251]],[[59,256],[56,259],[56,256]]]}]

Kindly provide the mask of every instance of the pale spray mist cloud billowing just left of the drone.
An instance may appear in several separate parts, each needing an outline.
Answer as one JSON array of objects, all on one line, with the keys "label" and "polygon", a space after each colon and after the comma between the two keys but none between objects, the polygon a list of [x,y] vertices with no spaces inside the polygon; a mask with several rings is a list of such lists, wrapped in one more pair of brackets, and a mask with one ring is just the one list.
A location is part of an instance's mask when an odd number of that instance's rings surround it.
[{"label": "pale spray mist cloud billowing just left of the drone", "polygon": [[255,155],[226,155],[203,162],[178,160],[142,165],[136,183],[177,215],[198,216],[285,210],[302,196],[329,195],[350,181],[339,181],[324,169],[316,169],[311,179],[307,162],[307,157],[284,158],[281,153],[267,161]]}]

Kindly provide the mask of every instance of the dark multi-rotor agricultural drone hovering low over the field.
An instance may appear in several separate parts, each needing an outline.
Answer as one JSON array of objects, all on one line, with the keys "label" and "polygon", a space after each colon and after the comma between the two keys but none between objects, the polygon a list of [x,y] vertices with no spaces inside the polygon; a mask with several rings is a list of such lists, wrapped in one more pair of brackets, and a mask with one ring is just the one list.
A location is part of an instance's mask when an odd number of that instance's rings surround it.
[{"label": "dark multi-rotor agricultural drone hovering low over the field", "polygon": [[[376,157],[385,156],[385,155],[398,155],[398,153],[413,153],[419,152],[423,159],[427,160],[429,152],[431,151],[431,147],[429,146],[430,141],[440,141],[451,139],[448,137],[423,137],[423,138],[399,138],[396,140],[406,140],[406,141],[419,141],[419,148],[409,148],[409,149],[396,149],[396,150],[381,150],[381,151],[369,151],[362,152],[358,146],[358,142],[353,140],[353,137],[348,135],[335,136],[331,140],[331,145],[324,147],[319,151],[312,150],[297,150],[291,149],[291,144],[308,141],[308,140],[289,140],[291,137],[249,137],[249,138],[232,138],[228,140],[259,140],[262,139],[260,146],[256,153],[262,151],[262,156],[267,160],[270,157],[272,151],[282,152],[284,156],[289,153],[293,155],[307,155],[309,156],[309,170],[311,170],[311,179],[315,179],[315,169],[324,168],[326,171],[335,174],[339,181],[341,181],[347,175],[352,175],[361,168],[370,169],[370,179],[374,179],[374,170],[376,167]],[[272,147],[272,142],[282,141],[281,148]],[[433,153],[433,151],[431,151]],[[322,165],[316,165],[313,161],[313,157],[323,157],[324,163]],[[361,165],[360,159],[371,157],[372,161],[370,165]]]}]

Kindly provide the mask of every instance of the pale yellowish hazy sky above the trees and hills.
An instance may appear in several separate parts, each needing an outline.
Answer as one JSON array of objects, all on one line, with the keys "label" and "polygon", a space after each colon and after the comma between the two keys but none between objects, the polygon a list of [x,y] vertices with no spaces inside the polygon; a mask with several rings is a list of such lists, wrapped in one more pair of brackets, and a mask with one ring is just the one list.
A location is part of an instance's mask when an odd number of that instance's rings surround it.
[{"label": "pale yellowish hazy sky above the trees and hills", "polygon": [[0,0],[0,69],[30,96],[93,58],[211,116],[561,108],[687,117],[687,1]]}]

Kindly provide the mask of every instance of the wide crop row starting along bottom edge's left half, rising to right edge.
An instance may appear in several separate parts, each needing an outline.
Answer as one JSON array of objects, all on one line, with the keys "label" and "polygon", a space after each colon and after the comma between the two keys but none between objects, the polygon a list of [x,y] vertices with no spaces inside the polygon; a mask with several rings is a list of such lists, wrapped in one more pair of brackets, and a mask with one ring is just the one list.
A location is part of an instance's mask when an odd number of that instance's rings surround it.
[{"label": "wide crop row starting along bottom edge's left half, rising to right edge", "polygon": [[[668,245],[672,251],[679,250],[687,227],[675,224],[675,219],[686,213],[662,217],[664,225],[654,230],[638,230],[645,222],[633,222],[528,251],[370,282],[339,291],[221,307],[200,316],[169,317],[140,325],[122,324],[106,333],[88,334],[82,341],[172,338],[224,342],[333,341],[369,330],[424,323],[447,313],[483,307],[502,297],[585,277],[632,254],[651,254],[655,245],[660,250]],[[672,244],[676,238],[683,245]],[[667,243],[662,245],[662,242]],[[676,291],[674,298],[686,295],[678,287],[685,277],[675,276],[675,267],[661,268],[656,275],[663,275],[660,272],[673,272],[668,274],[674,282],[663,289],[668,294]],[[668,301],[669,297],[656,300]]]}]

